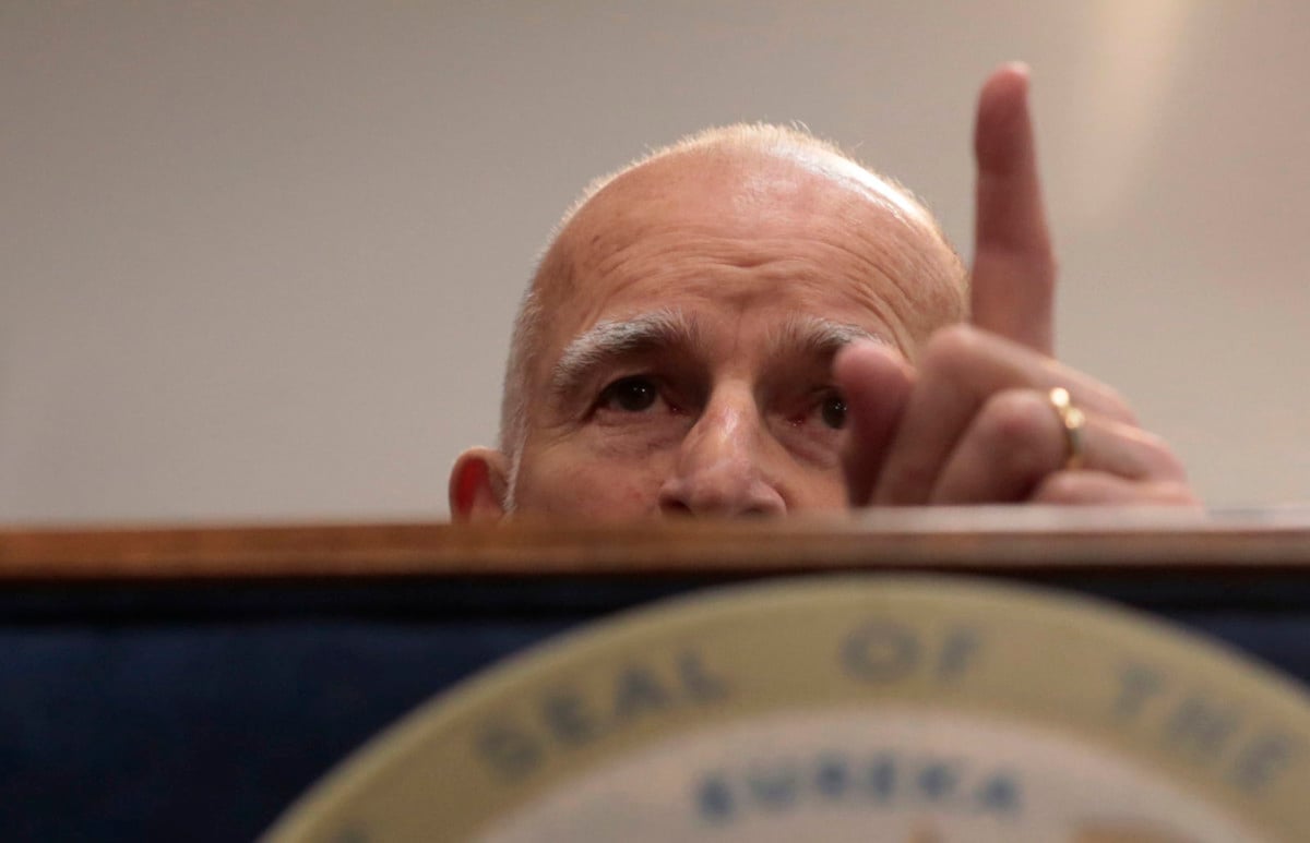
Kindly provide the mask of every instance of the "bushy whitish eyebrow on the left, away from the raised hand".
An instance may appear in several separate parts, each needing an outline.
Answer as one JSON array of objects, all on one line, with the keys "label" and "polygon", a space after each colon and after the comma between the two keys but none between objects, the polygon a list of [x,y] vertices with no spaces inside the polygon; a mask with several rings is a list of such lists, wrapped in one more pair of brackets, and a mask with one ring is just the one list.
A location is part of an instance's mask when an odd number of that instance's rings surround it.
[{"label": "bushy whitish eyebrow on the left, away from the raised hand", "polygon": [[697,344],[696,323],[681,310],[655,310],[630,319],[599,322],[576,336],[555,364],[550,389],[555,394],[569,394],[597,367],[654,348]]}]

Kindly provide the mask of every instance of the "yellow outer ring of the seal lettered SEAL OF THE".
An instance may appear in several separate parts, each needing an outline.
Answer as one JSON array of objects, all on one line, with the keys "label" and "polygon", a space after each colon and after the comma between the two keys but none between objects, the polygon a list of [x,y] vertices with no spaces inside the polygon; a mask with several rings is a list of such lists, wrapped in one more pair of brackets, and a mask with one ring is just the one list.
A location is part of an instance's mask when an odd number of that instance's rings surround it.
[{"label": "yellow outer ring of the seal lettered SEAL OF THE", "polygon": [[903,575],[706,589],[538,644],[384,730],[266,839],[464,840],[671,736],[850,706],[1062,730],[1271,839],[1310,839],[1310,698],[1298,686],[1102,601]]}]

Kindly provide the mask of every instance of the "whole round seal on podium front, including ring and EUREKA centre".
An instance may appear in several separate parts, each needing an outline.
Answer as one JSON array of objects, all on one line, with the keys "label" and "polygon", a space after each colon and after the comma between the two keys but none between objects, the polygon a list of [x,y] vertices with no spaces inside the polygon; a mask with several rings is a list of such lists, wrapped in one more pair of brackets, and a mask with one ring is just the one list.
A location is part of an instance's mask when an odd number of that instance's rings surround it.
[{"label": "whole round seal on podium front, including ring and EUREKA centre", "polygon": [[1310,699],[1123,609],[905,576],[714,589],[440,695],[269,840],[1310,839]]}]

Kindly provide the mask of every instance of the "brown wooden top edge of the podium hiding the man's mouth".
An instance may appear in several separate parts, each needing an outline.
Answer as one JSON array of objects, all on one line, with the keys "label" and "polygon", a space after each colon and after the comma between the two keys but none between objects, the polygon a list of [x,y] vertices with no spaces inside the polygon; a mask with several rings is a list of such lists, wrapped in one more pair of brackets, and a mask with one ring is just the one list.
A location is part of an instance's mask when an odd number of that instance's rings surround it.
[{"label": "brown wooden top edge of the podium hiding the man's mouth", "polygon": [[772,522],[0,529],[0,583],[696,575],[836,569],[1310,573],[1310,508],[984,507]]}]

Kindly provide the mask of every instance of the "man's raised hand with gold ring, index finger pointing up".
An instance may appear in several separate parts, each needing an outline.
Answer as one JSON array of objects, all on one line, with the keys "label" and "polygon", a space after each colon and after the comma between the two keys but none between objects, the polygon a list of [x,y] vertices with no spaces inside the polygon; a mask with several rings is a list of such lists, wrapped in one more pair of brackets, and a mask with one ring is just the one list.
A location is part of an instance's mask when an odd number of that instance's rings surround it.
[{"label": "man's raised hand with gold ring, index finger pointing up", "polygon": [[[1051,356],[1056,260],[1027,88],[1027,68],[1005,65],[979,97],[969,322],[934,334],[917,370],[874,343],[834,364],[854,505],[1196,503],[1179,461],[1124,401]],[[1055,387],[1085,419],[1074,436]]]}]

